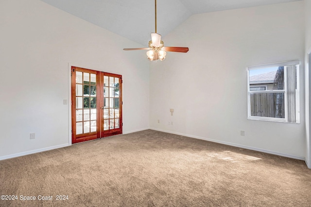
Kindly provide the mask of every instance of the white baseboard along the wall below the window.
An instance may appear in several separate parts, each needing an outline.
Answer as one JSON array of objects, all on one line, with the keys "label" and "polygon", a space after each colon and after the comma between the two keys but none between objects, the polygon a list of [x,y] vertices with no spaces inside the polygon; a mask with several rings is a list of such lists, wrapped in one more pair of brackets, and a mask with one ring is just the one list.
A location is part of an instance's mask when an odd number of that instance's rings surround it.
[{"label": "white baseboard along the wall below the window", "polygon": [[[303,157],[303,156],[289,155],[289,154],[285,154],[285,153],[274,152],[274,151],[260,149],[260,148],[256,148],[256,147],[250,147],[250,146],[245,146],[245,145],[241,145],[241,144],[235,144],[235,143],[231,143],[231,142],[220,141],[220,140],[216,140],[216,139],[203,138],[203,137],[198,137],[198,136],[193,136],[193,135],[188,135],[188,134],[183,134],[183,133],[178,133],[178,132],[171,132],[171,131],[161,130],[161,129],[156,129],[156,128],[150,128],[150,129],[155,130],[155,131],[166,132],[166,133],[171,133],[171,134],[175,134],[175,135],[181,135],[181,136],[185,136],[185,137],[190,137],[190,138],[203,139],[203,140],[206,140],[206,141],[211,141],[211,142],[216,142],[216,143],[219,143],[219,144],[230,145],[230,146],[233,146],[233,147],[240,147],[240,148],[247,149],[247,150],[253,150],[253,151],[258,151],[258,152],[262,152],[262,153],[267,153],[267,154],[272,154],[272,155],[279,155],[279,156],[284,156],[284,157],[289,157],[289,158],[293,158],[293,159],[299,159],[299,160],[306,161],[305,157]],[[307,164],[307,166],[308,166],[308,164]]]}]

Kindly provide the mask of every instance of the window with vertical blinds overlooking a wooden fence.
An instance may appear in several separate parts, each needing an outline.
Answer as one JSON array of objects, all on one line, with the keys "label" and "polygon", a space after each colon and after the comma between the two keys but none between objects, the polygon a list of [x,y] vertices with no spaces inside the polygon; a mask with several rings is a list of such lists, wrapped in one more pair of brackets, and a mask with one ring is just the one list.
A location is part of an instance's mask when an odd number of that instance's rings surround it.
[{"label": "window with vertical blinds overlooking a wooden fence", "polygon": [[247,68],[248,119],[299,123],[299,61]]}]

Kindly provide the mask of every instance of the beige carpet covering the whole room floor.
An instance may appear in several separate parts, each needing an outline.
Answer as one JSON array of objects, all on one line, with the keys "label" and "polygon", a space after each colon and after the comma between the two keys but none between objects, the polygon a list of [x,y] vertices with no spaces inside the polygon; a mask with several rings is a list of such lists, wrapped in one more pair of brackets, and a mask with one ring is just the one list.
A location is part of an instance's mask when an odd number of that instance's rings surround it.
[{"label": "beige carpet covering the whole room floor", "polygon": [[145,130],[2,160],[0,194],[18,199],[1,207],[311,207],[311,170],[301,160]]}]

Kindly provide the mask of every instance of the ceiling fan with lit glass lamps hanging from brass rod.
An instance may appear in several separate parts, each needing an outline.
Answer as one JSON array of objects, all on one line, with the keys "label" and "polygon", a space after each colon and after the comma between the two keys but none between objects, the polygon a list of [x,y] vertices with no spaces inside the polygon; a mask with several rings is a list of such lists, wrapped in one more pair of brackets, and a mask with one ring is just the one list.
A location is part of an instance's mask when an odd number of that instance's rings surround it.
[{"label": "ceiling fan with lit glass lamps hanging from brass rod", "polygon": [[166,52],[188,52],[189,48],[183,47],[164,47],[164,43],[161,40],[161,35],[156,33],[156,0],[155,0],[155,33],[151,33],[151,40],[149,41],[149,48],[125,48],[125,51],[134,50],[148,50],[148,59],[161,61],[165,59]]}]

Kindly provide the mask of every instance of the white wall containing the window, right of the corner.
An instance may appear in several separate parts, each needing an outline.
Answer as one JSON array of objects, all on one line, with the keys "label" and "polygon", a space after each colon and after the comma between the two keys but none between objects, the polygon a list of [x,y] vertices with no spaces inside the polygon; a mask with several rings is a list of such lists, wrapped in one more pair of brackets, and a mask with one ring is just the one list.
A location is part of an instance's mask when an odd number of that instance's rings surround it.
[{"label": "white wall containing the window, right of the corner", "polygon": [[[163,37],[164,45],[190,51],[151,64],[151,128],[304,159],[303,6],[197,14]],[[247,120],[247,66],[295,59],[302,63],[300,124]]]}]

